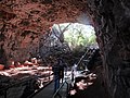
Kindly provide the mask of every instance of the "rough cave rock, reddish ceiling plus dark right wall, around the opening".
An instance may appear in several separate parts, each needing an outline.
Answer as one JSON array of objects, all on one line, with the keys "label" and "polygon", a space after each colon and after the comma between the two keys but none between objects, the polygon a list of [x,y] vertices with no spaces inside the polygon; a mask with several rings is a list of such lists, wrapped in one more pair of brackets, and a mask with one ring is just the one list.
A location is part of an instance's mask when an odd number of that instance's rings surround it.
[{"label": "rough cave rock, reddish ceiling plus dark right wall, around the opening", "polygon": [[129,0],[0,0],[0,53],[4,60],[28,59],[52,24],[77,22],[87,11],[102,51],[105,85],[112,98],[130,98]]}]

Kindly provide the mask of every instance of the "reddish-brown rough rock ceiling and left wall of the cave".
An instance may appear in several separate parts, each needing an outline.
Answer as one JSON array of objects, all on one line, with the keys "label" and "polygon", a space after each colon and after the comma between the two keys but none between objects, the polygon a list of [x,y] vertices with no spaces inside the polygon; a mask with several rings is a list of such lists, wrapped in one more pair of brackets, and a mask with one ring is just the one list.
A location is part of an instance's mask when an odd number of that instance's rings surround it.
[{"label": "reddish-brown rough rock ceiling and left wall of the cave", "polygon": [[86,5],[86,0],[0,0],[0,46],[3,46],[4,60],[24,61],[36,57],[39,38],[49,27],[76,22],[87,12]]}]

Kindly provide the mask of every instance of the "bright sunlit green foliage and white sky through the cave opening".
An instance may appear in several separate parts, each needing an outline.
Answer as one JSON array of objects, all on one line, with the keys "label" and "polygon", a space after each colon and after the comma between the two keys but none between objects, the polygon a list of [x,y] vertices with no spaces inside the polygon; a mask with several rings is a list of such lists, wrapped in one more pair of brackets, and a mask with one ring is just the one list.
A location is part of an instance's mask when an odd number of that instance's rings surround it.
[{"label": "bright sunlit green foliage and white sky through the cave opening", "polygon": [[54,24],[52,27],[55,32],[55,35],[62,35],[63,33],[64,42],[68,44],[70,50],[86,47],[98,48],[98,44],[95,41],[95,32],[91,25],[83,25],[79,23],[63,23]]}]

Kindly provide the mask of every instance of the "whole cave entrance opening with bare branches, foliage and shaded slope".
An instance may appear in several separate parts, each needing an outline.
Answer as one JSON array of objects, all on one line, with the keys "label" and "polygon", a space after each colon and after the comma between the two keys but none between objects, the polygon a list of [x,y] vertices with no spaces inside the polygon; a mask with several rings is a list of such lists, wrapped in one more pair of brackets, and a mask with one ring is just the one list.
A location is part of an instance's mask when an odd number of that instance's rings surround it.
[{"label": "whole cave entrance opening with bare branches, foliage and shaded slope", "polygon": [[87,49],[99,48],[95,38],[95,32],[91,25],[81,23],[53,24],[47,35],[40,38],[39,52],[47,63],[56,57],[64,58],[72,66],[74,63],[78,63],[77,61],[86,53]]}]

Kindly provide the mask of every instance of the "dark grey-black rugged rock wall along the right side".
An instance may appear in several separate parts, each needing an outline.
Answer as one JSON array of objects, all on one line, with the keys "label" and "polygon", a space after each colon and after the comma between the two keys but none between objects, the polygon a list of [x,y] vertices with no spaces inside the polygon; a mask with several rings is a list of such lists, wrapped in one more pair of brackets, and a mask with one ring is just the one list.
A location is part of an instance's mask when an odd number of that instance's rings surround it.
[{"label": "dark grey-black rugged rock wall along the right side", "polygon": [[130,98],[130,1],[88,0],[112,98]]}]

